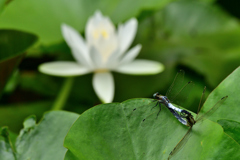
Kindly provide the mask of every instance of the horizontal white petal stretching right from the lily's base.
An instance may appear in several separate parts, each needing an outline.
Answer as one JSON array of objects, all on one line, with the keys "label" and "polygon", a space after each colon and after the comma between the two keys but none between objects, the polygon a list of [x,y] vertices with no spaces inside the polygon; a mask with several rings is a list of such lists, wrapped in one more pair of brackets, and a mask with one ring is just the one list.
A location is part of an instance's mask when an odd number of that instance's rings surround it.
[{"label": "horizontal white petal stretching right from the lily's base", "polygon": [[163,64],[150,60],[134,60],[131,63],[119,66],[115,71],[133,75],[157,74],[164,70]]}]

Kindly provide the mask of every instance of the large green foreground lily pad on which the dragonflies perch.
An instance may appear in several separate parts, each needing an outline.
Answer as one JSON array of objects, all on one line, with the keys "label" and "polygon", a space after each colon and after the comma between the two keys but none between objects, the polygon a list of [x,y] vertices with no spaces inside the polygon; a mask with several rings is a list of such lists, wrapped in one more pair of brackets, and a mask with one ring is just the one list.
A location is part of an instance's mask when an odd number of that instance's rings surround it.
[{"label": "large green foreground lily pad on which the dragonflies perch", "polygon": [[[166,107],[156,119],[159,108],[151,110],[147,105],[150,102],[132,99],[84,112],[65,138],[65,160],[167,159],[188,127],[180,124]],[[153,112],[143,127],[143,119]],[[228,146],[232,149],[226,151]],[[205,120],[193,126],[190,139],[172,159],[237,159],[239,151],[239,144],[218,124]]]}]

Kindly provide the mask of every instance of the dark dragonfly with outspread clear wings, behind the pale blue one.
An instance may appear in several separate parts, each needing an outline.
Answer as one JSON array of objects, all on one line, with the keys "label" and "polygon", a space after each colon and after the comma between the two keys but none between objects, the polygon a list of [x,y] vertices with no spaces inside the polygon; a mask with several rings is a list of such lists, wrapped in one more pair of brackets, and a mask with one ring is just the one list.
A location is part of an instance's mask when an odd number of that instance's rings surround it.
[{"label": "dark dragonfly with outspread clear wings, behind the pale blue one", "polygon": [[210,108],[205,114],[201,115],[200,117],[198,117],[199,112],[202,108],[202,104],[203,104],[203,99],[204,99],[204,95],[205,95],[205,91],[206,91],[206,87],[203,90],[200,102],[199,102],[199,106],[198,106],[198,111],[197,111],[197,116],[196,119],[194,119],[193,115],[186,111],[186,110],[182,110],[182,112],[184,114],[181,114],[179,116],[181,116],[182,118],[186,118],[187,121],[187,126],[189,126],[189,129],[187,131],[187,133],[183,136],[183,138],[178,142],[178,144],[174,147],[174,149],[170,152],[168,160],[170,160],[170,158],[172,156],[174,156],[178,151],[180,151],[184,145],[187,143],[188,139],[190,138],[191,135],[191,130],[193,128],[193,126],[200,122],[203,119],[206,119],[207,117],[209,117],[210,115],[212,115],[222,104],[223,102],[225,102],[225,100],[228,98],[228,96],[224,96],[222,97],[215,105],[213,105],[212,108]]}]

